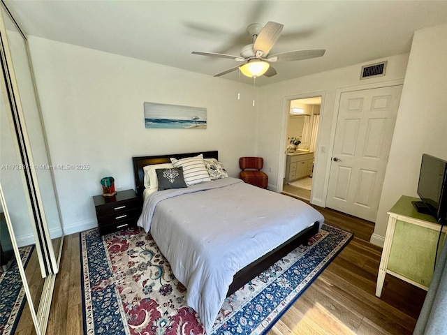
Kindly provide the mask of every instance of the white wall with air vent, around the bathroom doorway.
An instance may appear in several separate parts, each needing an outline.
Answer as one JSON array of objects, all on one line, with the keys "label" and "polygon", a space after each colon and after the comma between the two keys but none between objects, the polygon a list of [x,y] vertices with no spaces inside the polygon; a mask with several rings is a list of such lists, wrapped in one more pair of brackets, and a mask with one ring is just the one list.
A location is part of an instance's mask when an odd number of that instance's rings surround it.
[{"label": "white wall with air vent, around the bathroom doorway", "polygon": [[[374,59],[365,64],[388,60],[386,75],[383,77],[360,80],[362,65],[338,68],[336,70],[316,73],[294,80],[279,82],[261,87],[261,103],[258,115],[258,140],[256,155],[263,156],[265,172],[269,175],[269,188],[277,190],[278,178],[284,175],[285,142],[282,129],[288,115],[287,100],[306,98],[323,94],[320,111],[320,131],[315,153],[314,184],[312,186],[312,203],[325,205],[325,187],[328,160],[330,160],[330,144],[334,136],[334,108],[337,89],[357,87],[378,82],[402,80],[405,76],[408,54],[402,54],[386,59]],[[325,152],[322,151],[324,149]],[[272,172],[268,168],[272,168]],[[279,177],[280,176],[280,177]],[[282,183],[282,180],[280,181]]]}]

